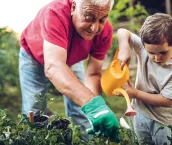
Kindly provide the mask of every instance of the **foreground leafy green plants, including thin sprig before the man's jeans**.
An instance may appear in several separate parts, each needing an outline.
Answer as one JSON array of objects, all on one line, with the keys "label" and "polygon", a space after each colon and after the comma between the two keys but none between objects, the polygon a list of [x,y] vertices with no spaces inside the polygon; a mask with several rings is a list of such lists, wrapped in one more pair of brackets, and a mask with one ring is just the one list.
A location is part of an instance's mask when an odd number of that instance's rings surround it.
[{"label": "foreground leafy green plants, including thin sprig before the man's jeans", "polygon": [[[45,98],[41,94],[36,95],[38,102],[48,101],[52,103],[54,96],[47,94]],[[41,109],[41,108],[40,108]],[[44,110],[41,110],[44,113]],[[40,114],[41,116],[42,114]],[[36,120],[35,120],[36,121]],[[82,136],[87,131],[80,131],[80,126],[75,125],[71,118],[52,115],[48,119],[47,126],[38,128],[37,122],[29,122],[25,114],[19,114],[17,120],[10,119],[7,110],[0,109],[0,144],[2,145],[114,145],[108,138],[100,133],[93,138],[83,140]],[[46,125],[46,124],[45,124]],[[120,128],[121,145],[129,142],[129,137],[123,137],[126,129]],[[126,135],[130,135],[129,133]],[[130,139],[131,140],[131,139]],[[130,145],[130,144],[128,144]]]}]

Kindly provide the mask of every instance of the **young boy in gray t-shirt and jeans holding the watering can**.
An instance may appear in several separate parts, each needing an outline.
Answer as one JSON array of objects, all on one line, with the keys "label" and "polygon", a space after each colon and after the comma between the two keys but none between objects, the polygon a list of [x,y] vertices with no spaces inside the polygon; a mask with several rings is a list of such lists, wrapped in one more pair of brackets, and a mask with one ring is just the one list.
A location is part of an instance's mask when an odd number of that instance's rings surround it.
[{"label": "young boy in gray t-shirt and jeans holding the watering can", "polygon": [[[170,144],[172,138],[172,17],[156,13],[149,16],[140,37],[126,29],[117,31],[118,59],[121,67],[129,63],[130,47],[137,55],[135,88],[128,82],[126,91],[137,111],[134,129],[139,144]],[[157,133],[156,131],[160,127]]]}]

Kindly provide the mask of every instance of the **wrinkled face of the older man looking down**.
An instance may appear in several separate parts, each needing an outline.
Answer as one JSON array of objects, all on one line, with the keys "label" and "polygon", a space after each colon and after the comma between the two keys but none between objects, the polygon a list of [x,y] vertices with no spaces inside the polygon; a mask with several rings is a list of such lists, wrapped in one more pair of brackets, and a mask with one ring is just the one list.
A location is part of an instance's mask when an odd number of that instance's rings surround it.
[{"label": "wrinkled face of the older man looking down", "polygon": [[76,3],[75,6],[74,2],[72,7],[73,25],[83,39],[91,40],[102,32],[110,10],[109,4],[100,7],[89,0],[82,0],[81,5]]}]

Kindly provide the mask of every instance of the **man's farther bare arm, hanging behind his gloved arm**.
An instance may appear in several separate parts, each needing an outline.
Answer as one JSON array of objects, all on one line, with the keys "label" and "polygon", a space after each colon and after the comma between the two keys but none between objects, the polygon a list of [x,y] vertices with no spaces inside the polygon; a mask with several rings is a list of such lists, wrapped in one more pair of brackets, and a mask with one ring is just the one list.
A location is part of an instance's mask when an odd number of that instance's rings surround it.
[{"label": "man's farther bare arm, hanging behind his gloved arm", "polygon": [[96,96],[101,94],[100,78],[102,65],[103,60],[90,56],[84,76],[85,86],[94,92]]}]

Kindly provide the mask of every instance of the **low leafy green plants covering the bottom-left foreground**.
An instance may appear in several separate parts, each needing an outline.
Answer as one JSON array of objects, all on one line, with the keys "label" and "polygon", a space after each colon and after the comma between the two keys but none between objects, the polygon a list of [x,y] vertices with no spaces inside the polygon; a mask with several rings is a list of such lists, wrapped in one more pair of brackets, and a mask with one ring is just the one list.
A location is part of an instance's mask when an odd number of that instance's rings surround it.
[{"label": "low leafy green plants covering the bottom-left foreground", "polygon": [[[66,118],[53,116],[52,121],[61,120],[60,125],[64,125]],[[59,127],[48,129],[36,129],[29,122],[26,115],[19,115],[17,121],[9,119],[5,110],[0,110],[0,144],[1,145],[106,145],[109,143],[107,138],[101,135],[95,135],[94,138],[87,141],[82,139],[80,126],[73,122],[67,125],[67,128]]]}]

